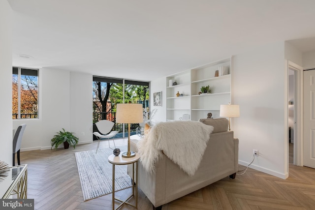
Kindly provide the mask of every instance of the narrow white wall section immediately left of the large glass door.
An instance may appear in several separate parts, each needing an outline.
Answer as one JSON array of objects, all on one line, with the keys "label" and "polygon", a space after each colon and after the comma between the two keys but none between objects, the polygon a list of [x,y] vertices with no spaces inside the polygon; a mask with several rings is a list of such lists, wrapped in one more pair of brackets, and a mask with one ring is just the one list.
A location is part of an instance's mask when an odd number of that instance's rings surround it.
[{"label": "narrow white wall section immediately left of the large glass door", "polygon": [[92,95],[93,76],[84,73],[70,73],[70,130],[79,138],[80,144],[93,142]]}]

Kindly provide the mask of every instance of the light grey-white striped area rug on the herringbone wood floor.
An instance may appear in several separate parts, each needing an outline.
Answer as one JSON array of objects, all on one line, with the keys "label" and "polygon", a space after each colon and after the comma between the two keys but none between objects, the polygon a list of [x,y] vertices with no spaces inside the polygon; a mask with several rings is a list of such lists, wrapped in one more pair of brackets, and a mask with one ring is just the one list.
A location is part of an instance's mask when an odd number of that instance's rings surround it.
[{"label": "light grey-white striped area rug on the herringbone wood floor", "polygon": [[[121,148],[124,151],[124,148]],[[84,201],[112,193],[113,165],[108,156],[110,148],[75,152]],[[131,187],[127,165],[115,166],[115,192]]]}]

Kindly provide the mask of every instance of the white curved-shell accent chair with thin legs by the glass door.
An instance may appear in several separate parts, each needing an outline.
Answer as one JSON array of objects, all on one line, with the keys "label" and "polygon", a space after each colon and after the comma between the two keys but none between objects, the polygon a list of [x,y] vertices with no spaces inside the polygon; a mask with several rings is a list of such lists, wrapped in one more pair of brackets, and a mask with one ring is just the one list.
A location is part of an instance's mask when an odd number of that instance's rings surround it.
[{"label": "white curved-shell accent chair with thin legs by the glass door", "polygon": [[[99,132],[93,132],[93,134],[98,139],[96,153],[97,153],[97,150],[99,147],[99,142],[102,139],[108,139],[108,147],[111,148],[109,145],[109,139],[116,136],[116,134],[118,133],[118,131],[111,131],[114,124],[115,124],[114,122],[109,121],[109,120],[100,120],[100,121],[95,123],[98,131],[100,132],[100,133]],[[116,148],[114,139],[113,139],[113,142],[114,142],[114,147]],[[113,148],[111,148],[111,149],[113,149]]]}]

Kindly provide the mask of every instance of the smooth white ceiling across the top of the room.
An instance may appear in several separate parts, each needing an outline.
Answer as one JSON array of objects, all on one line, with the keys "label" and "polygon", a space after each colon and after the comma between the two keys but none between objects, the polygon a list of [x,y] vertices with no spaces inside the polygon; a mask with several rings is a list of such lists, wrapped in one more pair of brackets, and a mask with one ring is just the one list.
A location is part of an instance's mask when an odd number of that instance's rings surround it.
[{"label": "smooth white ceiling across the top of the room", "polygon": [[315,49],[315,0],[8,2],[15,66],[150,81],[273,42]]}]

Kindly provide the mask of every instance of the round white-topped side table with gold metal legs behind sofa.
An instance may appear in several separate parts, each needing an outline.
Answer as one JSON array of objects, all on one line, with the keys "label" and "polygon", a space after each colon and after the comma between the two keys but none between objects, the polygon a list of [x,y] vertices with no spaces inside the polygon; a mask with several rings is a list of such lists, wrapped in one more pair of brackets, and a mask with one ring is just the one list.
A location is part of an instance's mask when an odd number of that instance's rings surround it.
[{"label": "round white-topped side table with gold metal legs behind sofa", "polygon": [[[113,165],[113,193],[112,193],[112,200],[113,200],[113,210],[119,209],[123,204],[127,204],[129,206],[132,206],[134,208],[138,208],[138,161],[140,159],[140,155],[136,153],[134,157],[122,157],[122,153],[119,156],[115,156],[114,154],[111,154],[108,156],[108,162],[110,162]],[[122,201],[120,199],[115,198],[115,165],[129,165],[132,164],[132,180],[134,180],[134,165],[136,165],[136,183],[135,185],[132,183],[132,194],[129,198],[127,198],[125,201]],[[134,190],[135,189],[135,190]],[[135,195],[136,199],[136,205],[132,205],[128,203],[127,201]],[[116,209],[115,209],[115,200],[122,202]]]}]

